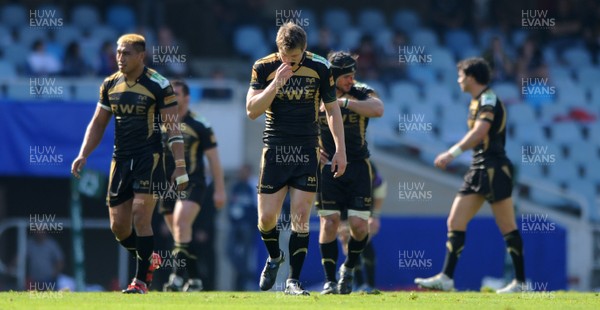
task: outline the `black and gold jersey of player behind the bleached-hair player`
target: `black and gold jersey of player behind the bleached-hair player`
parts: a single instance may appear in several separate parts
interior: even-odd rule
[[[183,150],[187,173],[192,179],[194,179],[195,176],[203,178],[204,151],[217,146],[215,134],[206,119],[202,117],[195,119],[190,112],[188,112],[181,120],[179,129],[183,135]],[[168,147],[167,140],[168,135],[166,131],[163,130],[165,164],[167,166],[167,176],[170,177],[170,174],[175,169],[175,160],[173,159],[173,153],[171,153],[171,150]]]

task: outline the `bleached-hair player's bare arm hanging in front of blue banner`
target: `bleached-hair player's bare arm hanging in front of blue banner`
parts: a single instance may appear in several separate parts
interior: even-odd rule
[[[83,138],[83,143],[81,144],[81,150],[79,151],[79,155],[73,161],[71,165],[71,174],[73,174],[76,178],[79,178],[79,172],[87,161],[88,156],[92,153],[94,149],[100,144],[102,140],[102,136],[104,136],[104,131],[106,130],[106,126],[110,122],[112,114],[108,110],[105,110],[100,105],[96,107],[96,111],[94,112],[94,116],[90,121],[86,131],[85,136]]]

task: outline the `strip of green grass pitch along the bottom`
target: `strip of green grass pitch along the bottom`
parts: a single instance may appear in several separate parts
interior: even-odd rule
[[[1,292],[0,309],[600,309],[599,293],[383,292],[287,296],[274,292],[125,295],[119,292]]]

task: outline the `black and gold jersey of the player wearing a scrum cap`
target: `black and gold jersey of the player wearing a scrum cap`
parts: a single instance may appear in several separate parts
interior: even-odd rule
[[[366,100],[370,96],[376,96],[375,91],[366,84],[355,82],[350,91],[340,98],[349,100]],[[344,121],[344,137],[346,141],[346,158],[349,162],[369,158],[367,148],[367,126],[369,118],[362,116],[350,109],[340,108],[342,120]],[[319,124],[321,127],[320,145],[329,154],[329,160],[335,154],[335,142],[327,124],[325,111],[319,112]]]

